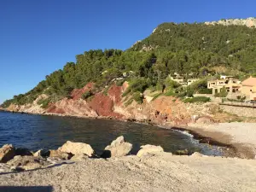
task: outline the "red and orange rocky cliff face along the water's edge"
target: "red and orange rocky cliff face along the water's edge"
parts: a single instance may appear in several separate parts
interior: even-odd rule
[[[49,113],[91,118],[134,119],[138,121],[151,121],[156,124],[187,125],[192,121],[191,117],[201,116],[207,119],[215,118],[218,106],[212,103],[189,104],[183,103],[172,96],[160,96],[155,100],[144,99],[142,104],[131,102],[126,106],[128,98],[122,97],[122,93],[128,87],[113,84],[108,89],[108,94],[97,92],[90,99],[81,98],[83,93],[93,89],[93,84],[86,84],[80,90],[73,90],[73,98],[64,98],[61,101],[51,103],[47,108],[41,108],[37,104],[39,96],[32,104],[9,106],[9,111],[24,113]],[[45,96],[43,96],[45,97]],[[214,109],[215,108],[215,109]],[[214,111],[214,110],[215,111]]]

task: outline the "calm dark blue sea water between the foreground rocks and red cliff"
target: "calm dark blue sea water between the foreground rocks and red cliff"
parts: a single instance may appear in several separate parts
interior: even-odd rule
[[[79,119],[0,112],[0,146],[11,143],[15,147],[38,150],[55,149],[67,140],[88,143],[96,154],[116,137],[124,136],[133,144],[136,154],[144,144],[160,145],[167,152],[188,148],[202,154],[222,155],[218,147],[198,143],[179,131],[157,126],[141,125],[106,119]]]

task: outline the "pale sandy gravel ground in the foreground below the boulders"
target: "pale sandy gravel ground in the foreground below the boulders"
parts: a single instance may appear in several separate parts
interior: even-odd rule
[[[255,178],[256,160],[160,153],[4,173],[0,191],[256,191]]]

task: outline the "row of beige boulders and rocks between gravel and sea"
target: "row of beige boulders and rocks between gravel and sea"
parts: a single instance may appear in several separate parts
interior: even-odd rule
[[[46,168],[73,161],[82,161],[89,158],[116,158],[130,154],[131,143],[126,143],[123,136],[118,137],[108,145],[100,157],[96,156],[93,148],[86,143],[73,143],[67,141],[56,150],[38,150],[33,153],[27,148],[15,148],[11,144],[0,148],[0,172],[26,171]],[[144,145],[137,156],[164,152],[160,146]]]

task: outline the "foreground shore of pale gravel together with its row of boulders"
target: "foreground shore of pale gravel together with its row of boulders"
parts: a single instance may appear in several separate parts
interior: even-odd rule
[[[256,160],[190,156],[118,137],[102,155],[86,143],[32,153],[0,149],[0,191],[255,191]]]

